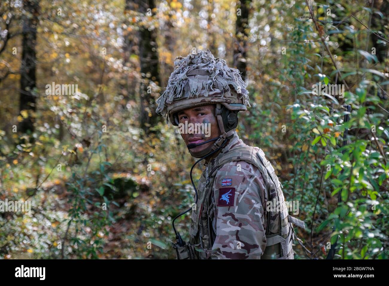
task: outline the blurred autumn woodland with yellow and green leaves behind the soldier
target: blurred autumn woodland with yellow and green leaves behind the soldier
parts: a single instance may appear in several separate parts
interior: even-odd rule
[[[299,202],[295,258],[338,234],[336,259],[388,258],[388,25],[388,0],[2,0],[0,200],[33,208],[0,213],[0,259],[175,258],[194,159],[155,100],[200,49],[247,82],[237,132]]]

